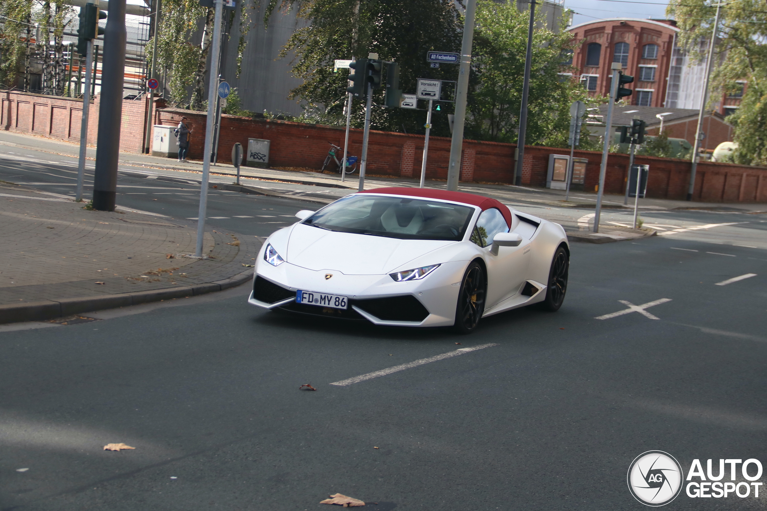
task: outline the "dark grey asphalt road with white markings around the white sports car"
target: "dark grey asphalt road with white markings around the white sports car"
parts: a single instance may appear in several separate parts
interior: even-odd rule
[[[69,168],[16,169],[27,173],[2,160],[0,179],[63,183]],[[121,188],[121,205],[196,216],[195,195],[180,195],[193,186],[120,185],[146,194]],[[210,224],[242,234],[311,204],[212,193],[210,217],[226,218]],[[572,244],[558,313],[492,316],[471,336],[263,312],[247,285],[81,325],[0,327],[0,510],[329,509],[318,503],[337,492],[366,509],[644,509],[626,485],[644,451],[685,472],[696,458],[765,464],[764,215],[657,215],[742,223]],[[661,299],[645,310],[658,319],[596,319]],[[136,448],[103,450],[120,442]],[[764,498],[682,493],[668,509]]]

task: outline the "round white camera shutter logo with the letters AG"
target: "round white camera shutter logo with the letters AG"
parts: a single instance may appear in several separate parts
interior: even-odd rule
[[[665,506],[682,491],[682,466],[662,450],[648,450],[631,462],[627,474],[631,495],[645,506]]]

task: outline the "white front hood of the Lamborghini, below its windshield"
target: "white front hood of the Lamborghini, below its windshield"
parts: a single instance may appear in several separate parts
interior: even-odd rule
[[[350,234],[297,224],[291,231],[285,260],[315,271],[338,270],[346,275],[380,275],[453,243],[456,242]]]

